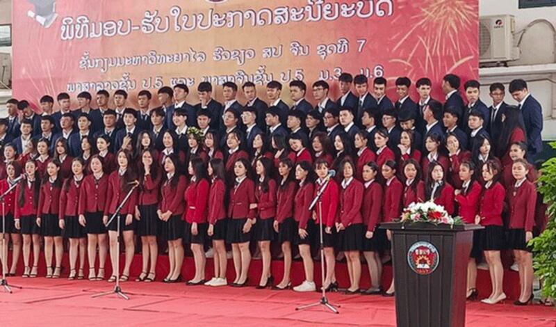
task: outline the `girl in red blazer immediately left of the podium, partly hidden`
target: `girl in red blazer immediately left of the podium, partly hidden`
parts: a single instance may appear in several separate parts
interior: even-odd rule
[[[395,177],[395,170],[395,161],[389,160],[382,165],[382,176],[386,180],[384,183],[383,221],[393,221],[394,219],[400,218],[400,214],[402,214],[403,185],[398,180],[398,177]],[[389,240],[392,238],[390,230],[386,230],[386,236]],[[389,244],[386,244],[386,249],[389,248]],[[389,289],[386,290],[383,295],[394,295],[394,280],[392,280]]]

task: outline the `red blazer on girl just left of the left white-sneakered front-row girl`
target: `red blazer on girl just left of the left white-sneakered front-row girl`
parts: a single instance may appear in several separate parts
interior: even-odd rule
[[[183,198],[187,202],[186,221],[188,223],[206,223],[208,216],[208,192],[211,186],[208,180],[202,179],[199,182],[190,183]]]

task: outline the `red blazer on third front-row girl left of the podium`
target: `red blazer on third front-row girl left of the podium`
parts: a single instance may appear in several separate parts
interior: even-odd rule
[[[363,223],[363,216],[361,216],[361,204],[363,201],[363,193],[365,187],[363,183],[355,178],[344,189],[341,187],[340,196],[340,223],[347,228],[347,226]]]

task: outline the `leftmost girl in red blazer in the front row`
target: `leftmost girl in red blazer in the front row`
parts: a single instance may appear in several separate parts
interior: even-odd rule
[[[14,186],[14,181],[19,175],[22,175],[22,168],[19,166],[17,161],[10,161],[6,163],[6,178],[0,180],[0,194],[6,193],[10,187]],[[17,186],[16,186],[17,187]],[[4,198],[4,204],[6,211],[6,229],[2,230],[0,226],[0,233],[6,233],[6,244],[12,240],[12,264],[10,270],[6,273],[6,276],[15,276],[15,269],[17,268],[17,262],[19,261],[19,256],[22,252],[22,234],[19,232],[19,227],[15,226],[15,207],[16,207],[16,191],[12,189],[10,193]],[[3,250],[0,244],[0,250]],[[2,262],[2,265],[8,267],[8,262]]]

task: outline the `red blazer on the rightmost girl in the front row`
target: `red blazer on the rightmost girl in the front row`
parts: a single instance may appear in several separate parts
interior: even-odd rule
[[[509,228],[523,228],[525,232],[532,232],[535,206],[537,205],[537,188],[532,182],[525,180],[517,189],[515,184],[511,189],[508,189],[507,196]]]

